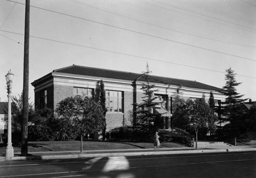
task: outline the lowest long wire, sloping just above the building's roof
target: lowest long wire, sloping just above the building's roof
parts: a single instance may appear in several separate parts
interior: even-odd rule
[[[0,31],[4,31],[4,30],[0,30]],[[4,31],[4,32],[24,35],[24,34],[15,33],[15,32],[9,32],[9,31]],[[81,45],[81,44],[75,44],[75,43],[59,41],[59,40],[54,40],[54,39],[48,39],[48,38],[42,38],[42,37],[37,37],[37,36],[30,36],[30,37],[37,38],[37,39],[44,39],[44,40],[48,40],[48,41],[59,42],[59,43],[64,43],[64,44],[69,44],[69,45],[77,46],[77,47],[89,48],[89,49],[93,49],[93,50],[99,50],[99,51],[104,51],[104,52],[110,52],[110,53],[121,54],[121,55],[125,55],[125,56],[132,56],[132,57],[137,57],[137,58],[142,58],[142,59],[147,59],[147,60],[159,61],[159,62],[164,62],[164,63],[170,63],[170,64],[175,64],[175,65],[186,66],[186,67],[189,67],[189,68],[195,68],[195,69],[211,71],[211,72],[219,72],[219,73],[224,73],[225,74],[225,72],[221,72],[221,71],[217,71],[217,70],[204,69],[204,68],[199,68],[199,67],[191,66],[191,65],[185,65],[185,64],[169,62],[169,61],[163,61],[163,60],[154,59],[154,58],[148,58],[148,57],[142,57],[142,56],[137,56],[137,55],[132,55],[132,54],[120,53],[120,52],[116,52],[116,51],[110,51],[110,50],[104,50],[104,49],[99,49],[99,48],[93,48],[93,47],[84,46],[84,45]],[[245,75],[238,75],[238,76],[256,79],[256,77],[250,77],[250,76],[245,76]]]

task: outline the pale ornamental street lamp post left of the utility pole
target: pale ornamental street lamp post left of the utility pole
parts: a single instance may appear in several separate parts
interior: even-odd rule
[[[5,151],[6,157],[13,157],[13,147],[12,147],[12,121],[11,121],[11,96],[12,96],[12,79],[14,74],[8,71],[8,74],[5,76],[7,81],[7,97],[8,97],[8,143]]]

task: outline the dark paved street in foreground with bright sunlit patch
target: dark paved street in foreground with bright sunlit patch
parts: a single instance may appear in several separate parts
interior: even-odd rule
[[[256,177],[256,151],[0,162],[0,177]]]

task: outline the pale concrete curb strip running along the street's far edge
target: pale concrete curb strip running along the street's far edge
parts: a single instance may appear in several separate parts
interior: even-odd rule
[[[146,152],[108,152],[108,153],[74,153],[57,155],[32,155],[28,157],[0,158],[1,161],[26,161],[26,160],[51,160],[51,159],[73,159],[73,158],[95,158],[95,157],[120,157],[136,155],[159,155],[159,154],[187,154],[187,153],[211,153],[211,152],[236,152],[236,151],[256,151],[256,148],[236,148],[236,149],[197,149],[197,150],[157,150]]]

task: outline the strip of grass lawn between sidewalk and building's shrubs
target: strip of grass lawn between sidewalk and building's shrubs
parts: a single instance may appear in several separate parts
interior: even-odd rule
[[[28,151],[74,151],[80,150],[80,141],[28,142]],[[161,143],[162,148],[186,147],[178,143]],[[20,145],[13,145],[14,152],[20,152]],[[83,150],[100,149],[143,149],[154,148],[153,143],[132,141],[83,141]],[[0,154],[5,154],[6,145],[0,143]]]

